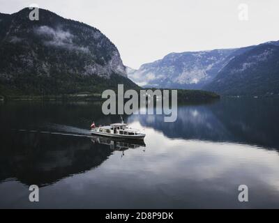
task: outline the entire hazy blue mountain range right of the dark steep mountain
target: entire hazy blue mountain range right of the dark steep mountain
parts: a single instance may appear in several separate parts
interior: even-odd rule
[[[221,95],[277,94],[278,46],[279,41],[270,41],[236,49],[172,53],[127,72],[146,87],[204,89]]]

